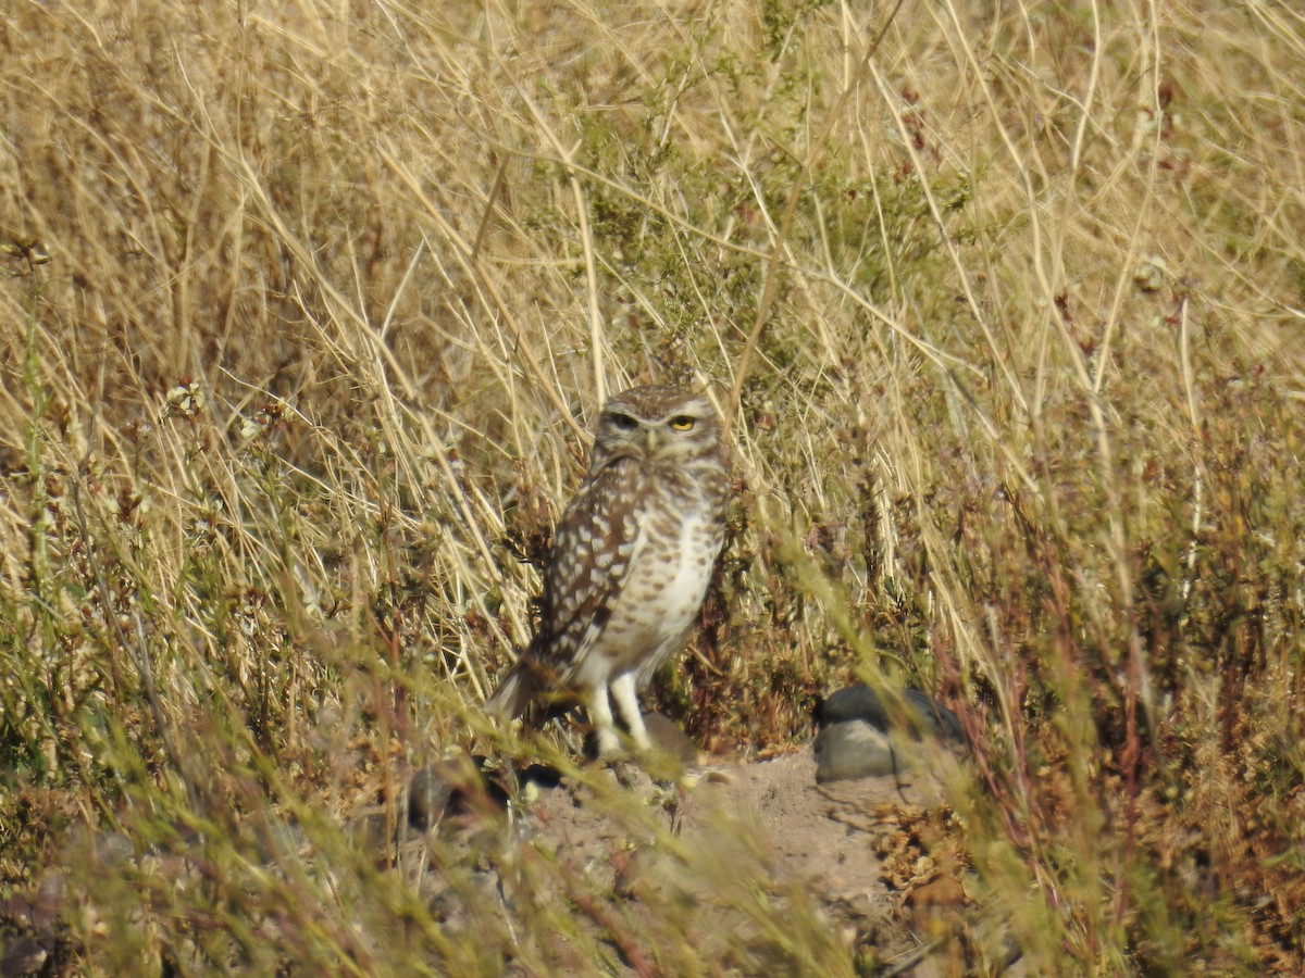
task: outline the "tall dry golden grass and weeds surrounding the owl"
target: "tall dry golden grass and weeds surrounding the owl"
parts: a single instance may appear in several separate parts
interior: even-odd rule
[[[701,742],[801,738],[882,669],[974,733],[970,846],[1039,973],[1305,966],[1305,22],[944,0],[872,50],[887,21],[8,5],[10,944],[493,973],[559,931],[604,968],[591,895],[512,930],[467,883],[466,931],[388,867],[406,765],[483,732],[529,635],[594,406],[659,379],[736,416],[658,694]],[[856,966],[793,921],[765,960]]]

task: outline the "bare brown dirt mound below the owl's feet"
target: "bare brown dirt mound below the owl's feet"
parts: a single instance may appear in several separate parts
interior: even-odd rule
[[[521,792],[514,841],[483,875],[509,917],[531,901],[579,906],[585,936],[532,947],[535,961],[590,969],[594,958],[579,944],[592,940],[612,947],[616,971],[666,973],[673,953],[647,947],[641,938],[655,928],[639,922],[664,925],[681,913],[694,960],[741,974],[805,970],[776,949],[784,935],[773,932],[775,914],[748,911],[761,900],[783,906],[780,919],[795,928],[822,928],[830,960],[851,961],[855,973],[1007,973],[1014,956],[981,922],[962,833],[933,773],[820,785],[809,746],[696,765],[676,782],[633,764],[598,773],[599,788],[562,778]],[[650,822],[630,818],[613,797]],[[666,835],[659,842],[650,825],[669,829],[673,844]],[[583,884],[542,884],[530,868],[539,853],[556,878]]]

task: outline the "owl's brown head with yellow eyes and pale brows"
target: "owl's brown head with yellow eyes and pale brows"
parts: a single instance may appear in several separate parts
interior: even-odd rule
[[[603,406],[592,469],[621,458],[690,462],[718,458],[720,419],[702,394],[680,387],[632,387]]]

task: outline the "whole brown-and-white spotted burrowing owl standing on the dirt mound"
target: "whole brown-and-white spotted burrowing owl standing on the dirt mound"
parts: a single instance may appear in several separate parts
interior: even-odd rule
[[[539,634],[488,709],[512,719],[547,692],[577,690],[609,755],[611,687],[634,746],[647,748],[637,690],[684,647],[724,540],[726,501],[720,420],[703,395],[634,387],[608,400],[553,536]]]

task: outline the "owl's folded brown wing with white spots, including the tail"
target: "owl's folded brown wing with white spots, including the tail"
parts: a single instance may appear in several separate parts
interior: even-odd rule
[[[642,473],[621,459],[592,473],[562,514],[544,574],[539,632],[487,708],[515,717],[564,690],[621,595],[643,548]]]

